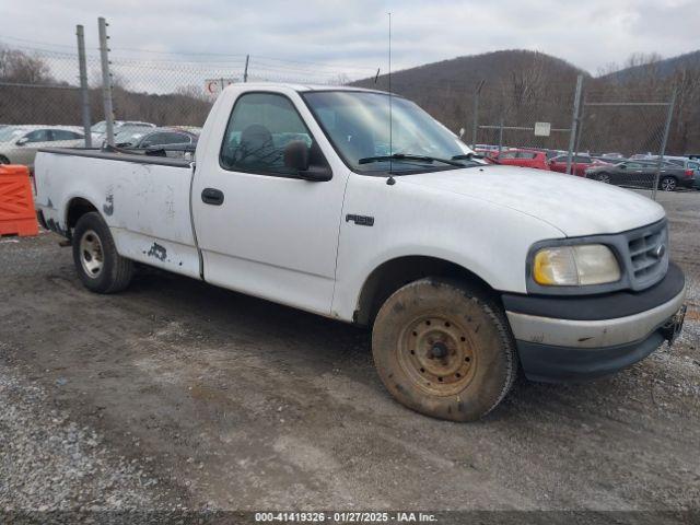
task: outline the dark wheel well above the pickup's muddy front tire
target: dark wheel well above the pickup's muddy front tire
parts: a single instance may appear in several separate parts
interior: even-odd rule
[[[466,268],[436,257],[406,256],[388,260],[372,271],[360,292],[353,320],[360,325],[371,325],[389,295],[409,282],[425,277],[446,277],[468,282],[493,296],[500,304],[495,291]]]

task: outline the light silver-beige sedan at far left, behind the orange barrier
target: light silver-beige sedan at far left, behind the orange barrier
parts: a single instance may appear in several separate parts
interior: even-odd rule
[[[34,168],[39,148],[80,148],[85,145],[82,132],[71,127],[11,126],[0,130],[0,164],[24,164]]]

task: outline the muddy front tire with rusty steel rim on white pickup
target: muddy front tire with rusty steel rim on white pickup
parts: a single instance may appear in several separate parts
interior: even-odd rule
[[[502,308],[476,288],[446,279],[421,279],[389,296],[374,322],[372,353],[399,402],[452,421],[489,413],[517,375]]]

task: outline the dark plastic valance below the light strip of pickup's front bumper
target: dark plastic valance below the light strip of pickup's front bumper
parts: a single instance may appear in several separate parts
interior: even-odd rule
[[[607,348],[565,348],[517,341],[525,376],[530,381],[563,383],[612,374],[656,350],[666,338],[661,330],[643,341]]]

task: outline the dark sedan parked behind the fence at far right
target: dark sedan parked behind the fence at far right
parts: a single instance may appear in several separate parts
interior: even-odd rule
[[[656,177],[657,162],[655,161],[625,161],[618,164],[596,166],[587,170],[588,178],[602,183],[630,186],[635,188],[652,188]],[[674,191],[678,188],[692,188],[695,172],[675,164],[662,164],[658,188]]]

